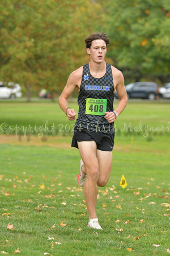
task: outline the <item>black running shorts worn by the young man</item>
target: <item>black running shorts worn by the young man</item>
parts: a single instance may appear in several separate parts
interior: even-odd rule
[[[98,150],[112,151],[114,147],[114,133],[105,134],[100,131],[89,131],[84,128],[79,130],[75,127],[71,147],[78,148],[77,142],[80,141],[95,141]]]

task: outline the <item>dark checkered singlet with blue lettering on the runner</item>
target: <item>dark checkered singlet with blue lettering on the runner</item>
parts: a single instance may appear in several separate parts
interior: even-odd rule
[[[78,97],[79,114],[75,126],[90,131],[113,133],[114,123],[109,123],[103,115],[86,114],[86,98],[107,99],[107,112],[113,111],[114,85],[111,65],[107,63],[106,73],[101,78],[91,76],[88,63],[83,66],[82,82]]]

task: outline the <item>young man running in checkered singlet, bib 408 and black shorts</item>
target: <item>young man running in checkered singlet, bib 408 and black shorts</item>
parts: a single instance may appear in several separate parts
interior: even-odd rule
[[[90,228],[102,229],[96,216],[97,187],[107,184],[112,168],[114,121],[127,104],[124,77],[118,69],[105,63],[110,40],[103,32],[85,39],[90,62],[76,69],[67,80],[59,97],[59,106],[69,120],[75,120],[74,109],[67,100],[78,88],[79,114],[71,146],[79,148],[81,155],[78,183],[84,186]],[[113,111],[114,90],[119,97]]]

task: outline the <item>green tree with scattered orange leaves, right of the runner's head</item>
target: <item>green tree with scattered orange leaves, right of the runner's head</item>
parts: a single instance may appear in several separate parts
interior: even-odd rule
[[[122,0],[107,2],[111,38],[108,55],[126,76],[170,79],[168,0]],[[109,19],[107,18],[109,16]]]

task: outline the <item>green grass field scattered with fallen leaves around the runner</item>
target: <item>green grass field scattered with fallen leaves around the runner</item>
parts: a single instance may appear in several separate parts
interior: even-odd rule
[[[116,120],[112,173],[97,199],[103,230],[97,232],[87,227],[77,183],[80,156],[70,147],[74,122],[56,103],[0,107],[1,253],[168,255],[168,103],[129,102]]]

